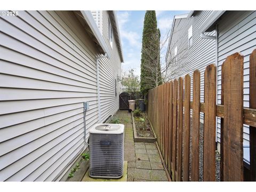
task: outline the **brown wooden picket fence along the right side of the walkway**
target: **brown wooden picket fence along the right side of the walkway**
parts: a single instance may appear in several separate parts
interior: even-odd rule
[[[193,101],[189,75],[149,90],[147,114],[172,181],[199,179],[200,112],[204,113],[203,180],[215,181],[216,117],[221,118],[220,180],[244,180],[243,124],[250,125],[250,177],[256,180],[256,50],[250,55],[250,108],[243,107],[243,59],[235,53],[222,64],[221,105],[216,105],[214,64],[204,72],[204,102],[198,70],[193,74]]]

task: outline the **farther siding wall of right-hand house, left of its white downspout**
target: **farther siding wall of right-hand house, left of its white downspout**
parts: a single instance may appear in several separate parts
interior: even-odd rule
[[[203,39],[198,33],[198,28],[202,25],[205,18],[209,17],[212,11],[197,11],[193,17],[175,19],[173,26],[167,63],[173,60],[174,49],[177,47],[177,63],[172,64],[175,71],[174,78],[190,75],[191,78],[191,100],[193,99],[193,71],[198,69],[201,73],[201,102],[204,102],[204,70],[207,65],[215,63],[215,40]],[[188,30],[193,29],[193,45],[188,46]],[[215,35],[215,31],[207,33]],[[174,65],[174,66],[173,66]],[[170,71],[169,71],[170,73]],[[201,122],[204,114],[201,113]]]

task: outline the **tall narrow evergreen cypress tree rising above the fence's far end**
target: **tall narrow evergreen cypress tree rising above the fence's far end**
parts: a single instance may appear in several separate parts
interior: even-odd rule
[[[160,30],[157,29],[156,12],[146,11],[141,50],[140,90],[142,94],[162,84],[159,49]]]

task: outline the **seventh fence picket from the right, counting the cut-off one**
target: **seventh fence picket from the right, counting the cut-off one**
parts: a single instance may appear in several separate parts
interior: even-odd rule
[[[177,99],[178,99],[178,81],[174,79],[173,83],[173,129],[172,129],[172,181],[175,181],[176,172],[176,138],[177,138]]]

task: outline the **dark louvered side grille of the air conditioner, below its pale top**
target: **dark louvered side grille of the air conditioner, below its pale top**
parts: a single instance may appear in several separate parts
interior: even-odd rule
[[[122,134],[90,134],[90,176],[120,178],[123,175]]]

